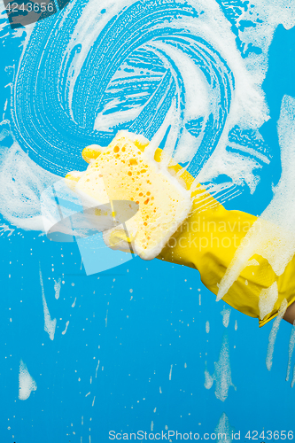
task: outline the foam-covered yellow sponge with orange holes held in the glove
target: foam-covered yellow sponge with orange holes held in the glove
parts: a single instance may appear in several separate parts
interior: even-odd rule
[[[120,131],[97,159],[91,159],[75,186],[75,191],[99,204],[113,200],[138,204],[138,212],[126,227],[109,229],[104,239],[113,249],[124,249],[125,243],[129,250],[131,243],[144,260],[159,255],[191,208],[190,191],[154,159],[154,150],[146,148],[148,143],[144,137]]]

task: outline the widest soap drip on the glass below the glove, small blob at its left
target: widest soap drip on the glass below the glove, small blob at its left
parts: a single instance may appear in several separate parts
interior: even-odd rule
[[[213,376],[210,375],[207,368],[205,369],[205,387],[206,389],[211,389],[213,382],[215,382],[216,399],[224,401],[228,398],[230,386],[232,386],[235,390],[237,389],[231,380],[229,337],[226,333],[223,335],[221,352],[219,354],[218,361],[214,362],[214,368],[215,370]]]

